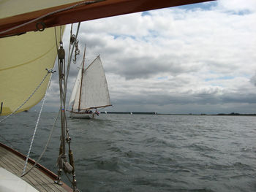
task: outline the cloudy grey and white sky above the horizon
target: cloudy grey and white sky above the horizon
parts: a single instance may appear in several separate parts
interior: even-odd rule
[[[113,107],[103,111],[256,113],[255,24],[255,0],[219,0],[81,23],[81,53],[72,64],[67,100],[86,43],[89,59],[101,55],[108,80]],[[58,110],[58,85],[53,77],[45,110]]]

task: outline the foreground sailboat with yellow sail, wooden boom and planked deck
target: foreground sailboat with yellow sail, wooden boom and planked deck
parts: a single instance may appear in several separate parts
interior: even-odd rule
[[[65,113],[67,72],[78,31],[71,38],[72,46],[69,47],[72,49],[66,66],[64,42],[61,39],[64,27],[61,26],[203,1],[211,0],[45,0],[40,1],[39,4],[29,0],[0,1],[0,115],[6,115],[1,118],[0,126],[3,126],[2,122],[10,115],[29,110],[42,99],[42,103],[45,101],[45,93],[54,73],[56,55],[58,55],[61,100],[59,110],[61,143],[59,152],[56,152],[59,153],[58,173],[54,174],[29,158],[29,153],[25,156],[1,143],[0,191],[79,191]],[[79,26],[80,23],[78,28]],[[34,133],[36,130],[37,125]],[[29,152],[33,139],[34,137],[31,139]],[[20,166],[23,163],[25,163],[24,168],[27,167],[30,172],[26,172],[26,169]],[[72,188],[61,182],[63,172],[72,175]]]

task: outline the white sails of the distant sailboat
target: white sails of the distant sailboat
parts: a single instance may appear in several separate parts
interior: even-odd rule
[[[86,110],[111,105],[108,83],[99,56],[83,72],[81,86],[81,93],[79,88],[76,91],[73,110],[78,110],[78,108],[79,110]]]

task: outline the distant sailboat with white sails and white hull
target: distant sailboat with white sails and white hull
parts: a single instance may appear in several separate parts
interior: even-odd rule
[[[94,118],[99,115],[98,108],[111,106],[108,82],[99,55],[84,69],[85,55],[86,48],[69,99],[69,105],[72,104],[72,109],[69,111],[71,118]],[[92,111],[93,109],[95,111]]]

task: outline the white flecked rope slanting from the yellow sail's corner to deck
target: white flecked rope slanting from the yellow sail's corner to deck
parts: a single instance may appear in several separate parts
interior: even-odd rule
[[[53,76],[53,73],[54,73],[55,71],[53,71],[53,69],[50,69],[50,70],[47,69],[47,70],[48,70],[48,74],[50,73],[50,80],[51,80],[51,77]],[[26,166],[27,166],[27,164],[28,164],[29,155],[30,155],[30,152],[31,152],[31,147],[32,147],[33,142],[34,142],[34,136],[35,136],[35,134],[36,134],[36,132],[37,132],[37,127],[38,127],[39,119],[40,119],[40,117],[41,117],[42,108],[43,108],[43,106],[44,106],[44,104],[45,104],[46,93],[47,93],[47,91],[48,91],[48,88],[50,87],[50,80],[49,80],[49,82],[48,82],[47,90],[45,91],[44,99],[42,100],[42,106],[41,106],[41,109],[40,109],[40,112],[39,112],[39,115],[38,115],[38,118],[37,118],[37,124],[36,124],[36,126],[35,126],[35,128],[34,128],[34,134],[33,134],[33,137],[32,137],[32,139],[31,139],[31,143],[30,143],[30,146],[29,146],[29,152],[28,152],[28,155],[26,156],[26,161],[25,161],[25,165],[24,165],[23,173],[22,173],[22,174],[24,174],[25,171],[26,171]]]

